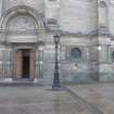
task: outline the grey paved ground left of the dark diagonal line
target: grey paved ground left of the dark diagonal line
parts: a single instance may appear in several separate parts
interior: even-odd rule
[[[79,88],[77,89],[79,90]],[[0,114],[102,113],[91,107],[91,105],[72,93],[68,89],[52,91],[51,87],[22,86],[0,87]]]

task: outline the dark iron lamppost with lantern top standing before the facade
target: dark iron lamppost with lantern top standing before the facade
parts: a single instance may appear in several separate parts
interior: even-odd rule
[[[61,88],[60,74],[59,74],[59,60],[58,60],[58,54],[59,54],[58,48],[60,42],[60,36],[59,35],[53,36],[53,40],[55,43],[55,64],[54,64],[54,78],[53,78],[52,89],[55,90]]]

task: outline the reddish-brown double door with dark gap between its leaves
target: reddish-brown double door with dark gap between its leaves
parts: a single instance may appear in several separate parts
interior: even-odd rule
[[[18,49],[15,60],[16,78],[35,78],[35,50]]]

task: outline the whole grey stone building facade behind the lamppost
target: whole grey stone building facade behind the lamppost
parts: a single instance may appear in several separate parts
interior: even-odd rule
[[[114,0],[0,0],[0,81],[114,80]]]

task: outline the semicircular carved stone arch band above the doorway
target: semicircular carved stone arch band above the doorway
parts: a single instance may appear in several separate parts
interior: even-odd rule
[[[30,15],[31,17],[34,17],[34,20],[37,23],[37,29],[45,29],[43,16],[41,14],[39,14],[35,9],[26,7],[26,5],[17,5],[17,7],[9,9],[2,15],[2,18],[0,21],[1,29],[5,29],[7,23],[9,22],[9,20],[11,17],[13,17],[14,15],[17,15],[17,14],[28,14],[28,15]]]

